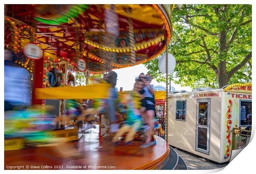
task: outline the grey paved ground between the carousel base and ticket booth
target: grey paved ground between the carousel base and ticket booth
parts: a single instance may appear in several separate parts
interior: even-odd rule
[[[187,163],[187,167],[189,170],[208,170],[208,169],[218,169],[225,167],[228,165],[228,163],[223,163],[219,165],[219,163],[207,160],[206,162],[203,162],[199,160],[199,156],[193,155],[191,153],[188,153],[183,150],[179,150],[177,148],[174,148],[178,155],[183,158],[183,160]]]

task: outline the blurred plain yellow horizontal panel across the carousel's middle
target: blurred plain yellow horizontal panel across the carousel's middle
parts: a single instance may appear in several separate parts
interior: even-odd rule
[[[36,88],[36,99],[107,99],[109,84]]]

